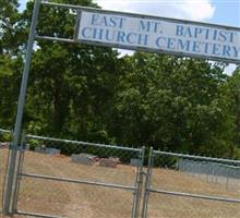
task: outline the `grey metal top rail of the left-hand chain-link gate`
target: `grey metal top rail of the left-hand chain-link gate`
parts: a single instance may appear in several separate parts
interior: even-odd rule
[[[27,134],[26,138],[53,141],[53,142],[61,142],[61,143],[71,143],[71,144],[75,144],[75,145],[88,145],[88,146],[97,146],[97,147],[131,150],[131,152],[142,152],[143,150],[143,148],[123,147],[123,146],[117,146],[117,145],[106,145],[106,144],[89,143],[89,142],[83,142],[83,141],[62,140],[62,138],[46,137],[46,136],[38,136],[38,135],[32,135],[32,134]]]

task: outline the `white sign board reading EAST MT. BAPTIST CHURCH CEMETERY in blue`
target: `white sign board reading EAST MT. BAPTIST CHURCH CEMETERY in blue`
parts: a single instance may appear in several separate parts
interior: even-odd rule
[[[99,10],[80,11],[75,39],[240,63],[240,28]]]

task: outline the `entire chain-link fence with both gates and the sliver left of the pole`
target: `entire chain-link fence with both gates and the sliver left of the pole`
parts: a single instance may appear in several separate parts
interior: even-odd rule
[[[11,137],[0,129],[1,203]],[[144,153],[144,147],[25,135],[11,209],[16,217],[240,217],[240,161],[151,148],[143,167]]]

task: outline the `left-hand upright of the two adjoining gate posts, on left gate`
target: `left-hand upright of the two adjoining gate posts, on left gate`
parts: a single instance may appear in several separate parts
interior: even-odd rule
[[[137,166],[137,175],[135,181],[135,196],[134,196],[134,203],[132,208],[132,217],[137,218],[140,214],[140,202],[141,202],[141,193],[142,193],[142,184],[143,184],[143,165],[144,165],[144,157],[145,157],[145,147],[142,148],[140,154],[141,162]]]

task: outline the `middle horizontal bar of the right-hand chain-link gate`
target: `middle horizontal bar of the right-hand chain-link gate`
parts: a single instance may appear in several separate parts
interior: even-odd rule
[[[184,192],[155,190],[155,189],[147,189],[147,191],[153,192],[153,193],[182,196],[182,197],[193,197],[193,198],[200,198],[200,199],[220,201],[220,202],[228,202],[228,203],[240,203],[240,198],[237,199],[237,198],[218,197],[218,196],[209,196],[209,195],[190,194],[190,193],[184,193]]]

